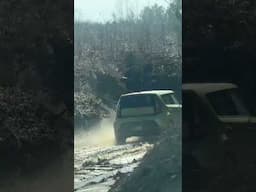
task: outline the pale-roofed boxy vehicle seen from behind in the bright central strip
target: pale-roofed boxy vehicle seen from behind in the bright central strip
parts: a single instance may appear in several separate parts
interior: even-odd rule
[[[180,119],[181,105],[172,90],[153,90],[121,95],[116,109],[116,142],[131,136],[157,136]]]

